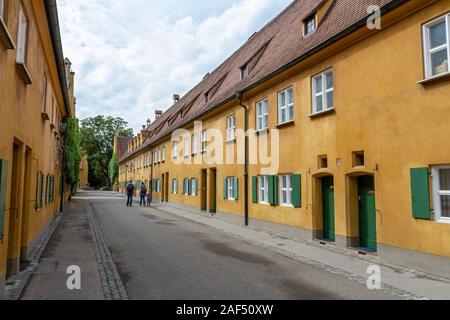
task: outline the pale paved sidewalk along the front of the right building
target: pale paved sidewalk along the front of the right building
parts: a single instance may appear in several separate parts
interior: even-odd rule
[[[274,224],[270,227],[269,223],[252,221],[250,227],[245,227],[243,218],[234,215],[211,216],[195,208],[170,204],[158,203],[153,207],[362,283],[366,283],[369,277],[368,267],[379,265],[383,290],[406,299],[450,299],[450,279],[438,278],[400,266],[382,265],[376,256],[363,258],[356,253],[332,246],[296,239],[285,232],[280,232]]]

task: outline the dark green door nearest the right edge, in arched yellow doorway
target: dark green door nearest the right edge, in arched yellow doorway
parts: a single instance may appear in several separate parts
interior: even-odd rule
[[[360,246],[377,250],[377,217],[375,208],[375,182],[372,176],[358,178],[359,241]]]

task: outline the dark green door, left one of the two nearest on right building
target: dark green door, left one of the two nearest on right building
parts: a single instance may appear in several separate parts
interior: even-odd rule
[[[325,177],[322,179],[322,207],[323,207],[323,238],[335,241],[334,225],[334,179]]]

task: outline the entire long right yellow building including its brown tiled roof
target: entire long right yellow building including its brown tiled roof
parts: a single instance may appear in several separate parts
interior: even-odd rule
[[[294,1],[130,143],[122,191],[449,276],[450,3],[373,2]]]

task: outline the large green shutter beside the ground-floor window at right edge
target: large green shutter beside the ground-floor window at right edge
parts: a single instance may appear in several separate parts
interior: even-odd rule
[[[414,218],[431,219],[428,168],[411,169],[411,197]]]

